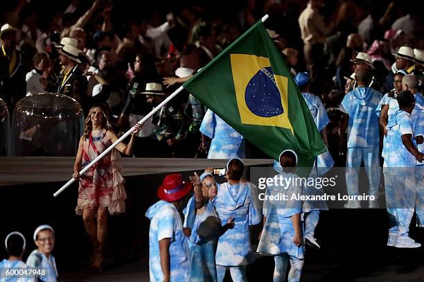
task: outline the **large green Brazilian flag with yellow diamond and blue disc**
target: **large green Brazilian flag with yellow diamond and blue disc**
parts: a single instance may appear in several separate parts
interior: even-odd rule
[[[258,21],[183,87],[273,159],[297,152],[299,167],[326,151],[283,55]]]

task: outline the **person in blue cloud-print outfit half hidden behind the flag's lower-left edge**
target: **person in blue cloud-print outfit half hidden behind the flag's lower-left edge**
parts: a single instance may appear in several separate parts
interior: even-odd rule
[[[243,159],[246,157],[243,136],[213,113],[211,109],[208,109],[203,117],[200,132],[202,132],[202,147],[204,150],[206,150],[206,143],[208,143],[206,137],[212,139],[208,159]]]

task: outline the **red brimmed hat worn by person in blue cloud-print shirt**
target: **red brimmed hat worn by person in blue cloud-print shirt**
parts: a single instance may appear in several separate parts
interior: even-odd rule
[[[157,196],[166,202],[175,202],[182,199],[190,191],[191,183],[183,182],[181,174],[173,173],[166,175],[162,185],[157,190]]]

